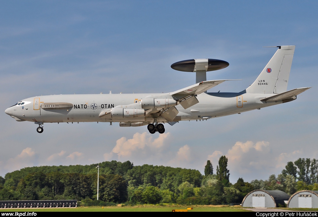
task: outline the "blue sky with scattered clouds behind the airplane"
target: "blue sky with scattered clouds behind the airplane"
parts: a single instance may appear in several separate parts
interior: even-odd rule
[[[130,160],[204,171],[229,158],[230,181],[267,179],[288,161],[318,158],[317,5],[313,1],[3,1],[0,8],[0,175],[40,165]],[[170,92],[195,74],[174,62],[230,63],[207,79],[237,92],[257,78],[275,48],[296,45],[288,88],[296,101],[166,126],[163,135],[118,123],[16,122],[5,108],[35,95]],[[214,169],[215,172],[215,169]]]

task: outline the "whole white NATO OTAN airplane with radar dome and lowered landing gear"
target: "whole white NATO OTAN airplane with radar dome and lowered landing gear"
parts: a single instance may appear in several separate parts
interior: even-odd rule
[[[121,127],[146,126],[149,133],[165,132],[164,124],[204,121],[290,102],[310,87],[287,91],[295,46],[275,46],[277,51],[248,88],[238,93],[208,93],[225,81],[206,81],[206,72],[223,69],[228,62],[191,59],[173,63],[172,69],[196,72],[196,84],[153,94],[79,94],[34,96],[17,102],[5,113],[16,121],[30,121],[43,132],[44,123],[119,122]]]

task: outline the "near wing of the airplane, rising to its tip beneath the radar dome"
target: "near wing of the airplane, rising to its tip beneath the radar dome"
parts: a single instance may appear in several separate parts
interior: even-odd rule
[[[170,95],[174,96],[176,99],[181,99],[181,98],[184,98],[188,95],[194,95],[194,94],[198,95],[198,94],[203,93],[203,92],[207,91],[208,89],[211,89],[212,87],[215,87],[218,84],[225,82],[225,81],[236,81],[236,80],[203,81],[203,82],[191,85],[189,87],[171,92]]]

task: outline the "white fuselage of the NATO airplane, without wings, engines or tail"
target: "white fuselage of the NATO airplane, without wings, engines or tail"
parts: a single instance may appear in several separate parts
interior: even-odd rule
[[[166,94],[83,94],[83,95],[46,95],[24,99],[20,105],[6,109],[6,113],[17,121],[30,122],[153,122],[152,116],[138,116],[128,118],[99,117],[100,112],[114,107],[140,102],[146,96],[164,96]],[[260,99],[274,94],[240,93],[202,93],[197,95],[199,103],[184,109],[181,105],[179,120],[210,119],[225,115],[237,114],[253,109],[259,109],[278,102],[262,102]],[[22,102],[24,102],[22,104]],[[67,102],[73,104],[69,109],[42,109],[42,103],[54,104]],[[122,105],[122,106],[121,106]],[[158,122],[166,122],[161,116]]]

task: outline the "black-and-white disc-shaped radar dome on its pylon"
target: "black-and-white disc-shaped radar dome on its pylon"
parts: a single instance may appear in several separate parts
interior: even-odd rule
[[[224,60],[217,59],[191,59],[175,62],[172,69],[182,72],[195,72],[196,83],[206,81],[206,72],[224,69],[230,64]]]

